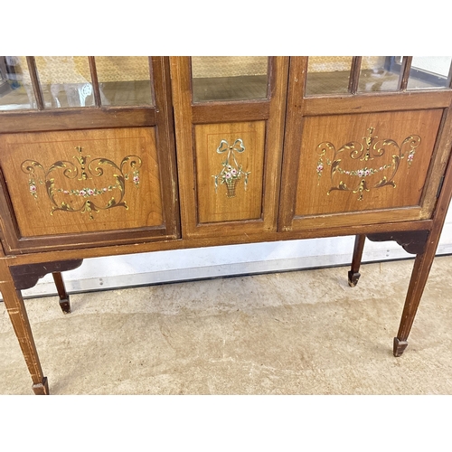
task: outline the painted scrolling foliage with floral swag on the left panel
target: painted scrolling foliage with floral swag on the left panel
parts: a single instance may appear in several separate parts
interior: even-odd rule
[[[74,155],[73,159],[77,164],[60,160],[45,169],[35,160],[25,160],[22,163],[22,171],[29,176],[31,195],[38,200],[38,187],[45,187],[52,202],[51,215],[55,211],[80,212],[88,213],[89,219],[94,220],[93,212],[113,207],[128,209],[124,200],[126,182],[132,182],[138,188],[139,168],[142,165],[140,157],[127,155],[116,165],[108,158],[89,160],[90,155],[83,155],[81,146],[76,149],[78,155]],[[72,181],[71,187],[67,188],[67,184],[59,186],[57,181]]]

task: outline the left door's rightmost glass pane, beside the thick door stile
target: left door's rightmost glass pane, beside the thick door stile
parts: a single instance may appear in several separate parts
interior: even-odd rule
[[[95,61],[102,105],[154,105],[146,56],[102,56]]]

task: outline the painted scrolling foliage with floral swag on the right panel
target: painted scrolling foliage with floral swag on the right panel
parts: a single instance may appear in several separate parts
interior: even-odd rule
[[[386,185],[396,187],[394,177],[402,159],[406,158],[410,168],[416,149],[420,145],[420,137],[411,135],[399,145],[391,138],[373,137],[373,131],[373,127],[367,129],[367,137],[363,137],[363,144],[350,141],[337,150],[329,141],[324,141],[317,146],[318,184],[324,174],[325,165],[331,167],[331,188],[327,194],[334,190],[348,191],[358,193],[358,201],[363,201],[364,192]]]

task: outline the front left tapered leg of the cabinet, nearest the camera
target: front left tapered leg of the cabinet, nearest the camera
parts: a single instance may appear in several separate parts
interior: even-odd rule
[[[14,287],[13,278],[9,268],[2,262],[0,291],[4,299],[6,311],[13,324],[14,333],[17,336],[25,363],[33,381],[33,392],[38,395],[49,394],[47,378],[42,373],[36,345],[34,344],[32,328],[28,321],[28,315],[24,306],[24,298],[20,290]]]

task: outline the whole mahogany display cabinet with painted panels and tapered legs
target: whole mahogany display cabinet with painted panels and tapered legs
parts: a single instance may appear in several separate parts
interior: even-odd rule
[[[426,58],[0,57],[0,291],[33,391],[21,290],[52,272],[69,313],[61,271],[153,250],[356,235],[354,286],[365,238],[397,240],[400,356],[452,193],[451,58]]]

